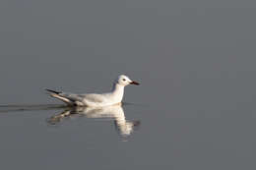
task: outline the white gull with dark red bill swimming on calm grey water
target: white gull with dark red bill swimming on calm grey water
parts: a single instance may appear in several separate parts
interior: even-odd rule
[[[124,94],[124,86],[126,85],[140,84],[131,81],[125,75],[120,75],[114,81],[112,90],[106,93],[75,94],[70,92],[55,91],[52,89],[46,90],[50,92],[52,97],[58,98],[70,106],[103,107],[121,103]]]

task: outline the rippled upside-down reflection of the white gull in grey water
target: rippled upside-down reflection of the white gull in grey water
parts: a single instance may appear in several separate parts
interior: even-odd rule
[[[73,116],[87,116],[88,118],[112,118],[115,129],[121,136],[129,136],[135,127],[140,125],[140,121],[128,121],[125,119],[121,105],[111,105],[106,107],[69,107],[58,115],[47,119],[48,124],[56,125],[64,118]]]

